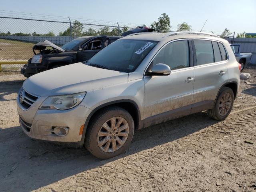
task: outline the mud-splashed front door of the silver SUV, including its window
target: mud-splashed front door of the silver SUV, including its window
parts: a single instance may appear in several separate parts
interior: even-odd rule
[[[171,42],[158,52],[150,64],[150,67],[158,63],[167,64],[171,74],[144,77],[145,126],[190,114],[195,71],[189,47],[188,40]]]

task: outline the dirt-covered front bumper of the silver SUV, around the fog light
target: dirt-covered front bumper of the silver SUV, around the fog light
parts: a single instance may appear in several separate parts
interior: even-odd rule
[[[17,108],[20,116],[20,126],[29,137],[57,142],[79,142],[82,140],[82,135],[79,134],[80,127],[84,125],[91,112],[89,108],[78,105],[69,110],[38,110],[47,98],[40,97],[28,110],[24,110],[18,98]],[[68,134],[57,136],[53,132],[54,127],[67,127]],[[85,130],[86,128],[84,128]]]

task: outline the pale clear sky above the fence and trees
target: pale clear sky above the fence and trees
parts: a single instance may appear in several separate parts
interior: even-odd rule
[[[45,0],[44,2],[12,0],[11,2],[0,0],[0,16],[22,16],[21,13],[16,12],[25,12],[52,15],[29,16],[37,19],[52,17],[67,20],[68,18],[64,17],[69,16],[95,20],[95,23],[116,25],[118,21],[120,25],[136,26],[136,24],[150,25],[165,12],[174,28],[182,22],[187,22],[192,29],[200,30],[207,19],[204,30],[221,33],[228,28],[230,32],[236,33],[256,32],[256,0]],[[25,14],[23,16],[28,17]],[[83,20],[86,21],[88,20]],[[3,31],[2,27],[0,31]]]

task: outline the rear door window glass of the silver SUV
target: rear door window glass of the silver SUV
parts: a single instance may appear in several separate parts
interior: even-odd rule
[[[203,65],[214,62],[212,42],[207,40],[194,40],[196,48],[197,65]]]

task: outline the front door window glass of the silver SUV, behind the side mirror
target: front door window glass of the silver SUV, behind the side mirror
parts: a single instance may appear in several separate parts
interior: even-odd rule
[[[180,40],[169,43],[154,58],[154,65],[164,63],[171,70],[189,67],[188,40]]]

